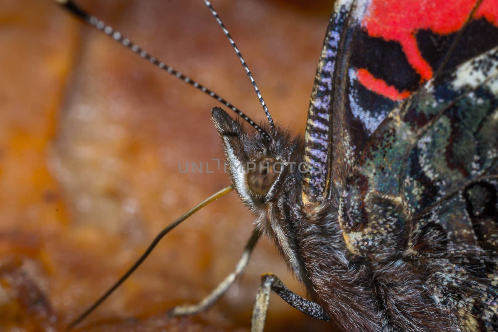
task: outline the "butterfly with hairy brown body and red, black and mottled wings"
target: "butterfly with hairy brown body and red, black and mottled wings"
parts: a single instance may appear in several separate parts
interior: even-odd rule
[[[498,330],[498,5],[448,2],[338,1],[304,140],[213,109],[249,246],[310,292],[263,275],[253,331],[270,291],[345,331]]]

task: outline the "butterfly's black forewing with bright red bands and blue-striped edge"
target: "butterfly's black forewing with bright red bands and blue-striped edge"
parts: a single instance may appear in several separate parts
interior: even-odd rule
[[[310,99],[302,182],[305,204],[337,197],[373,131],[437,71],[498,40],[498,0],[484,0],[459,35],[475,0],[338,0]],[[332,194],[333,192],[333,194]]]

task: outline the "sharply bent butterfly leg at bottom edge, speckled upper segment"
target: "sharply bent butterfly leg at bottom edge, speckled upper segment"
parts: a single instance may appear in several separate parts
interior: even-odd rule
[[[270,300],[270,290],[292,307],[305,313],[306,315],[323,321],[330,321],[329,316],[318,303],[306,300],[305,298],[295,294],[288,289],[276,275],[272,273],[264,273],[261,276],[261,285],[257,290],[256,301],[254,303],[254,308],[252,309],[251,332],[263,331],[266,311],[268,310],[268,303]]]

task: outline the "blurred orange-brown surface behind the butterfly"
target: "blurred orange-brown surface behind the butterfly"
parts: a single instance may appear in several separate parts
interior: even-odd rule
[[[332,4],[216,0],[272,116],[304,130]],[[264,118],[239,60],[200,0],[81,0],[152,55]],[[229,185],[210,120],[218,105],[49,0],[0,2],[0,331],[59,331],[170,221]],[[189,171],[181,173],[179,163]],[[192,162],[203,172],[192,173]],[[209,312],[166,319],[235,266],[252,217],[235,193],[197,213],[81,331],[248,331],[259,276],[304,294],[273,245]],[[266,330],[331,331],[272,296]]]

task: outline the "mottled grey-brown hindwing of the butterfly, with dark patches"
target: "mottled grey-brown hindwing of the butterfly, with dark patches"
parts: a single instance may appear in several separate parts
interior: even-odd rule
[[[344,189],[353,255],[407,262],[463,331],[498,331],[498,47],[392,111]]]

